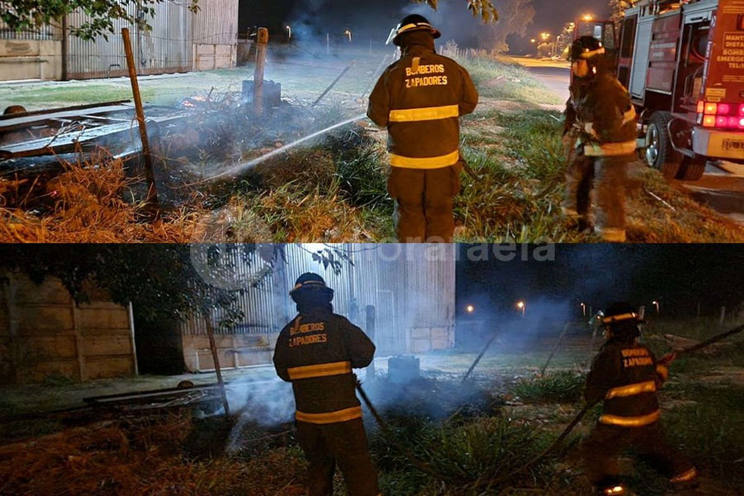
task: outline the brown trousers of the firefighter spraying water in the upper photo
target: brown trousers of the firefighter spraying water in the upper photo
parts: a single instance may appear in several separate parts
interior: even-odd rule
[[[395,200],[399,242],[452,242],[452,199],[460,192],[457,165],[439,169],[392,167],[388,193]]]

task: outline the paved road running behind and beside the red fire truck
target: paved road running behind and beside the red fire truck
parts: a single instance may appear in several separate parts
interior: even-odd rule
[[[570,68],[560,62],[513,57],[545,86],[563,100],[568,100]],[[744,166],[723,162],[719,167],[708,165],[699,181],[673,181],[694,199],[718,213],[744,225]]]

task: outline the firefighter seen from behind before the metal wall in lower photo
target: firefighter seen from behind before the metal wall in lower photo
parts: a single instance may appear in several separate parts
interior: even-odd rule
[[[292,382],[297,437],[310,463],[309,494],[333,495],[338,464],[350,496],[377,496],[351,373],[371,363],[374,344],[362,329],[333,313],[333,289],[318,274],[301,275],[290,294],[299,315],[279,335],[274,366],[281,379]]]

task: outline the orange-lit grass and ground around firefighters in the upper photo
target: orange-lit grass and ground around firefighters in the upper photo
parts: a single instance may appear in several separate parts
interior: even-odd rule
[[[269,119],[264,123],[266,129],[256,129],[260,126],[252,124],[233,127],[228,133],[230,141],[222,139],[216,145],[234,150],[231,155],[220,157],[221,165],[214,158],[211,162],[205,160],[209,155],[220,155],[215,154],[215,149],[203,149],[199,157],[179,159],[176,168],[196,173],[197,177],[208,175],[225,164],[249,160],[327,124],[364,112],[365,102],[359,96],[369,86],[379,63],[369,57],[355,65],[318,109],[307,109],[344,62],[337,62],[333,70],[305,67],[312,65],[307,61],[297,62],[301,65],[278,62],[267,77],[280,80],[286,97],[295,105],[306,107],[296,110],[300,118],[290,117],[291,126]],[[559,212],[565,158],[560,144],[562,116],[557,97],[519,65],[496,59],[463,63],[478,86],[481,104],[473,115],[463,119],[462,149],[477,178],[463,175],[464,187],[455,200],[456,240],[597,240],[591,233],[571,228]],[[199,82],[194,84],[201,85],[202,93],[220,81],[226,88],[237,89],[237,83],[249,72],[250,69],[214,71],[176,80],[152,80],[147,83],[153,87],[144,88],[155,94],[161,91],[163,97],[170,93],[166,91],[170,85],[180,84],[181,93],[187,94],[187,82],[192,80]],[[157,90],[157,85],[166,86]],[[40,91],[68,91],[64,98],[70,100],[79,98],[75,91],[80,89],[76,88],[68,85]],[[46,98],[43,94],[37,97]],[[87,192],[83,199],[71,195],[65,202],[42,209],[47,212],[42,215],[29,213],[28,210],[38,210],[31,208],[5,210],[4,218],[9,219],[6,224],[13,227],[1,231],[0,239],[65,241],[84,236],[86,240],[101,241],[187,241],[203,239],[202,233],[210,231],[203,224],[215,222],[214,219],[220,219],[221,225],[227,227],[220,232],[227,232],[229,239],[237,241],[251,240],[256,233],[261,240],[276,242],[393,239],[392,202],[385,190],[385,136],[384,131],[368,125],[347,126],[315,144],[264,162],[242,180],[218,188],[206,184],[176,187],[173,191],[182,196],[178,206],[164,213],[161,222],[154,226],[132,225],[139,207],[130,206],[129,201],[112,201],[121,198],[122,190],[126,191],[120,184],[124,173],[118,172],[119,164],[108,167],[117,175],[115,180],[107,181],[117,184],[113,188],[94,184],[73,167],[66,181],[81,183],[83,192]],[[635,167],[632,176],[627,209],[630,241],[744,239],[742,228],[697,204],[655,171]],[[193,176],[188,179],[185,182]],[[0,195],[12,196],[13,187],[12,182],[4,181]]]

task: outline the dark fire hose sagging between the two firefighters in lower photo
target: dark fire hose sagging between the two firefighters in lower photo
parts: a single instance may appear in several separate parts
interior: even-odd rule
[[[731,329],[727,332],[722,332],[721,334],[715,335],[712,338],[708,338],[705,341],[702,341],[698,344],[694,344],[690,347],[683,348],[682,350],[677,350],[671,353],[668,353],[667,355],[664,355],[658,363],[663,365],[671,364],[673,361],[675,361],[677,358],[679,358],[682,355],[686,355],[687,353],[696,352],[699,350],[702,350],[705,347],[710,346],[711,344],[717,343],[719,341],[723,341],[726,338],[730,338],[733,335],[737,335],[740,332],[744,332],[744,325],[738,326],[734,329]],[[495,338],[495,336],[494,336]],[[482,354],[487,350],[487,348],[490,346],[491,342],[493,340],[487,342],[487,345],[484,347]],[[478,363],[478,359],[476,359],[475,364]],[[475,368],[475,364],[471,367]],[[448,477],[441,473],[441,471],[437,471],[432,466],[429,466],[427,463],[424,463],[423,461],[419,460],[416,455],[406,448],[402,443],[398,442],[395,438],[395,434],[393,433],[392,429],[390,428],[390,425],[388,425],[387,422],[385,422],[385,419],[382,419],[382,416],[379,415],[376,408],[374,408],[374,405],[372,405],[372,402],[370,401],[369,397],[367,396],[367,393],[365,393],[365,390],[362,389],[362,383],[359,381],[356,381],[356,390],[359,391],[359,395],[362,396],[362,401],[365,402],[365,405],[369,408],[370,412],[372,413],[372,416],[376,420],[376,422],[379,424],[380,428],[382,429],[382,432],[385,434],[386,437],[388,437],[388,440],[400,450],[401,453],[405,455],[406,458],[414,465],[416,468],[418,468],[420,471],[423,471],[425,474],[429,474],[432,477],[435,477],[439,480],[443,480],[444,482],[448,483],[454,483],[454,484],[464,484],[467,486],[496,486],[502,483],[507,482],[508,480],[512,479],[516,475],[522,474],[522,472],[526,471],[529,468],[532,468],[537,463],[540,463],[542,460],[545,460],[545,457],[548,457],[549,454],[551,454],[560,444],[563,442],[563,440],[568,437],[568,434],[571,434],[571,431],[574,430],[574,428],[581,422],[581,420],[586,416],[587,413],[589,413],[589,410],[591,410],[594,405],[597,405],[597,403],[600,402],[600,400],[597,400],[596,402],[587,403],[584,405],[584,407],[581,409],[579,413],[577,413],[576,416],[574,416],[574,419],[571,420],[571,423],[566,426],[565,429],[563,429],[562,433],[553,441],[551,442],[551,445],[548,446],[548,448],[545,448],[545,451],[542,451],[539,455],[534,457],[529,462],[525,463],[522,467],[515,471],[511,471],[508,474],[504,474],[500,477],[493,477],[486,480],[476,480],[476,481],[465,481],[456,479],[455,477]]]

